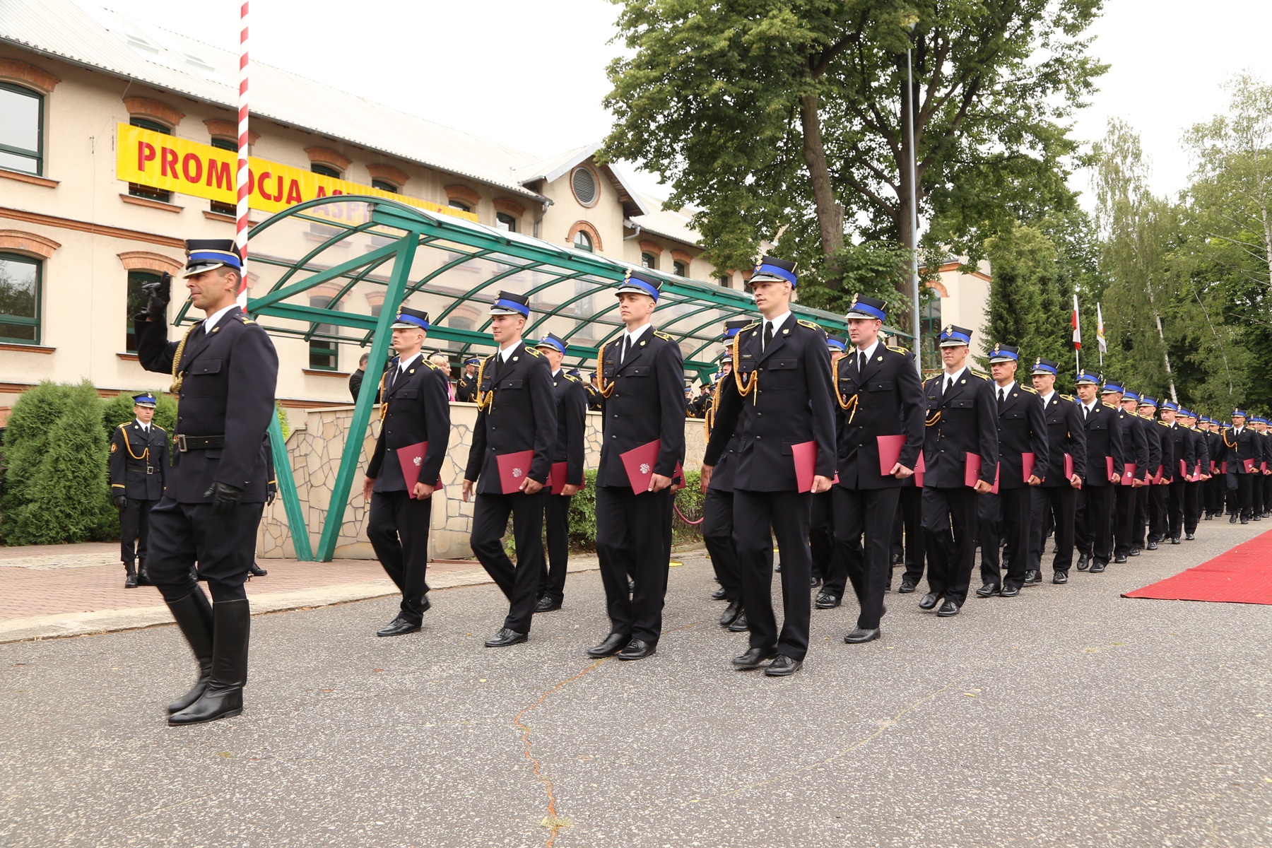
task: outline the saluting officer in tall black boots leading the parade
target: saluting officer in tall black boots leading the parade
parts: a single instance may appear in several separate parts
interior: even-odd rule
[[[235,303],[243,262],[229,239],[186,242],[186,287],[207,318],[168,341],[170,278],[145,286],[136,317],[137,359],[170,371],[177,394],[168,486],[150,511],[150,578],[198,661],[198,680],[168,704],[168,722],[190,725],[243,712],[251,610],[243,582],[270,481],[262,444],[273,416],[279,356]],[[195,562],[212,605],[195,582]]]

